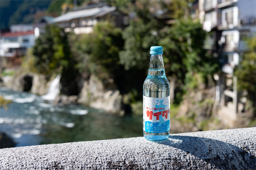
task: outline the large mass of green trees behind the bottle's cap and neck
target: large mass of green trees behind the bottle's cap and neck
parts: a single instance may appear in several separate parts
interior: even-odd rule
[[[203,49],[207,33],[199,21],[189,17],[191,2],[136,1],[134,18],[122,33],[124,50],[119,53],[125,70],[138,73],[148,68],[150,47],[163,46],[166,76],[176,79],[176,103],[182,100],[183,90],[198,88],[201,82],[207,84],[212,74],[220,69],[218,60]],[[163,12],[161,16],[157,14],[159,10]],[[174,18],[175,23],[166,25],[162,16]]]

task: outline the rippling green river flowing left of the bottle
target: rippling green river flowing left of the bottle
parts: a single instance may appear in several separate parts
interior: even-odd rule
[[[15,147],[143,136],[142,116],[116,116],[81,105],[53,106],[40,96],[0,88],[0,130]]]

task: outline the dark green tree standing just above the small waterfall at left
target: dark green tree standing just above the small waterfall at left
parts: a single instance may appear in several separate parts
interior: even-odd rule
[[[61,74],[61,93],[78,94],[76,60],[70,53],[68,37],[62,28],[47,25],[45,33],[35,41],[33,55],[38,73],[48,77],[52,74]]]

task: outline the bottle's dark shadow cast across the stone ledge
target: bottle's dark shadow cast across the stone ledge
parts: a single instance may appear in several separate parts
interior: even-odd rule
[[[221,170],[256,170],[256,157],[245,145],[241,149],[218,140],[193,136],[170,136],[160,144],[183,150]]]

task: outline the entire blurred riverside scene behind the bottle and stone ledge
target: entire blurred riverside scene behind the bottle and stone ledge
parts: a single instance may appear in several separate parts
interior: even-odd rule
[[[256,0],[1,0],[0,147],[143,136],[150,47],[171,133],[255,127]]]

